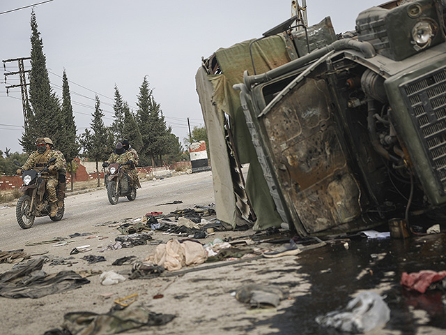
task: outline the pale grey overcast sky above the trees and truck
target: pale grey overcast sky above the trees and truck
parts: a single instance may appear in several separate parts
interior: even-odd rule
[[[43,1],[0,1],[0,60],[29,57],[32,8],[14,9]],[[307,0],[309,25],[330,16],[337,34],[353,30],[360,11],[383,2]],[[137,110],[137,94],[147,75],[167,124],[182,142],[188,133],[187,118],[191,128],[204,126],[194,79],[201,57],[259,38],[291,17],[291,0],[53,0],[33,8],[49,80],[59,97],[66,69],[78,134],[91,123],[95,94],[105,124],[112,123],[115,84],[124,101]],[[24,65],[29,69],[29,61]],[[9,62],[3,73],[17,70],[17,61]],[[6,84],[1,78],[2,151],[22,152],[20,87],[6,95],[6,86],[19,83],[18,75],[8,75]]]

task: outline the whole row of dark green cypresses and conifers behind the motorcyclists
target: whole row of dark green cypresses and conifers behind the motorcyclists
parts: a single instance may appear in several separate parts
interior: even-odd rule
[[[96,95],[90,127],[77,136],[66,70],[63,70],[62,98],[59,98],[50,85],[42,38],[36,15],[31,12],[31,70],[29,105],[26,106],[28,122],[20,139],[26,153],[36,149],[37,137],[50,137],[67,162],[77,156],[104,161],[114,150],[116,142],[127,139],[138,151],[140,165],[155,166],[183,158],[180,140],[167,126],[146,76],[139,87],[137,107],[136,111],[130,109],[115,84],[112,125],[105,126],[102,121],[105,114]]]

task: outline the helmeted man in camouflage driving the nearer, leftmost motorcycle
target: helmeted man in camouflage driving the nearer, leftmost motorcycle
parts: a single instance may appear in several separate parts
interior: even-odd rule
[[[37,150],[33,151],[29,155],[26,163],[17,169],[17,174],[22,174],[23,170],[29,170],[34,168],[35,170],[42,171],[45,163],[47,163],[51,158],[55,157],[56,161],[53,165],[49,165],[48,171],[42,172],[42,177],[46,181],[46,188],[48,193],[49,202],[51,204],[51,211],[49,216],[57,215],[57,193],[56,186],[58,181],[58,170],[63,168],[63,161],[56,151],[52,150],[49,144],[45,141],[44,137],[38,137],[36,140]]]

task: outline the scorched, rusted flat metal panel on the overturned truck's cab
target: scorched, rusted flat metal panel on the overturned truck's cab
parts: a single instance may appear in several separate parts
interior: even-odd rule
[[[324,80],[291,89],[259,121],[269,139],[279,183],[307,232],[360,216],[360,186],[348,167]]]

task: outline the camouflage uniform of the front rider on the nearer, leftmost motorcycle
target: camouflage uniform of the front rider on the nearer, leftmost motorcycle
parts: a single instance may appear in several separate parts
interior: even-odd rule
[[[49,202],[56,203],[57,194],[56,194],[56,186],[59,184],[59,180],[57,179],[58,172],[63,167],[63,161],[59,154],[52,149],[47,149],[43,154],[39,154],[38,151],[33,151],[31,155],[29,155],[26,163],[22,166],[22,170],[29,170],[31,168],[36,168],[36,170],[43,170],[43,164],[47,163],[51,158],[56,157],[56,162],[54,163],[54,168],[51,171],[45,171],[42,173],[42,177],[47,182],[47,193]]]

